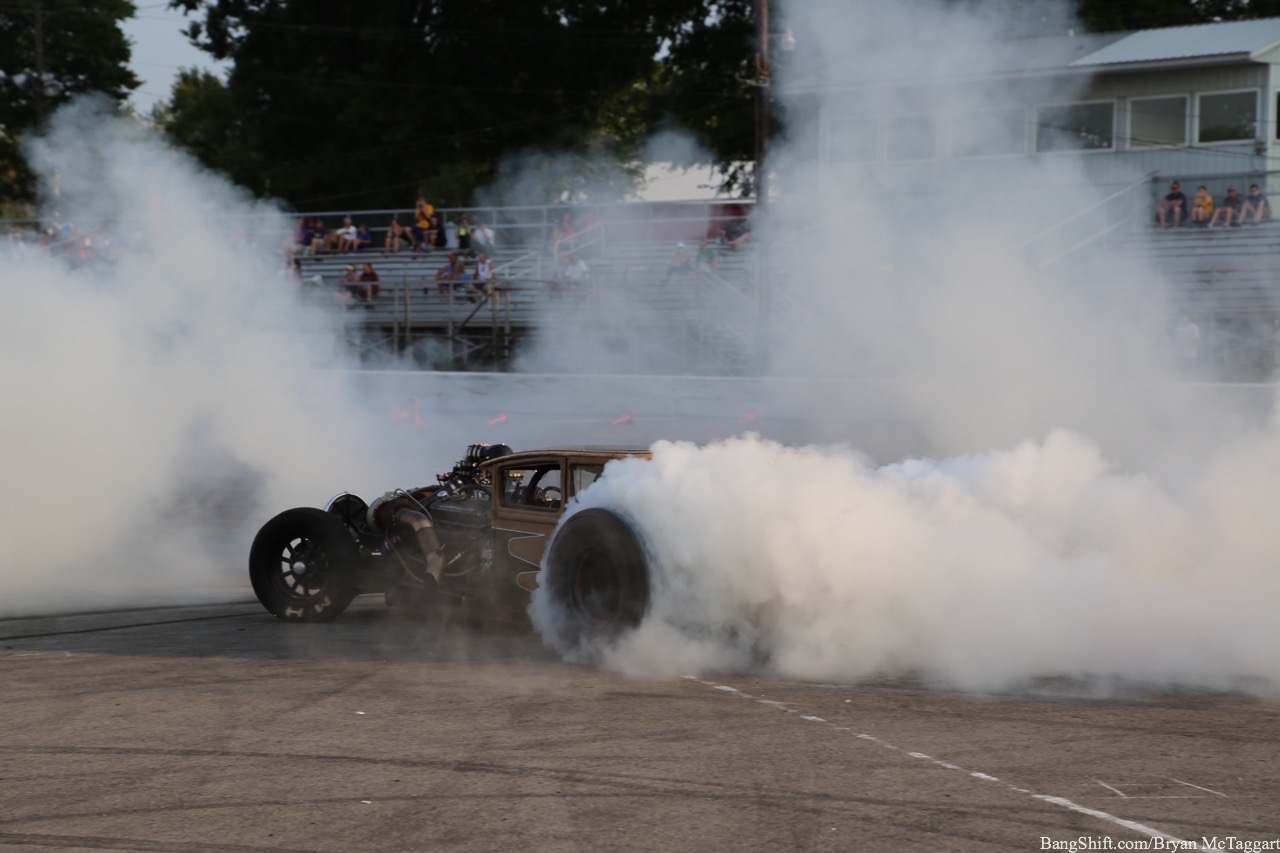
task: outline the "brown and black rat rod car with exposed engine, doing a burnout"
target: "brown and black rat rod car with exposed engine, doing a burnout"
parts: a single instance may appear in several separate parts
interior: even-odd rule
[[[570,639],[632,628],[649,599],[644,548],[603,508],[573,514],[548,548],[567,503],[609,460],[641,448],[512,452],[472,444],[435,485],[366,503],[343,493],[324,510],[285,510],[259,530],[250,579],[262,606],[289,622],[326,621],[361,593],[412,615],[463,607],[474,619],[520,617],[547,588]],[[543,557],[547,569],[539,571]]]

